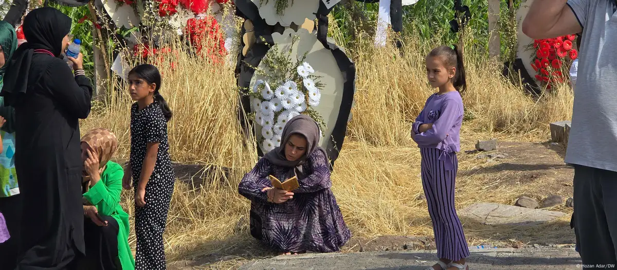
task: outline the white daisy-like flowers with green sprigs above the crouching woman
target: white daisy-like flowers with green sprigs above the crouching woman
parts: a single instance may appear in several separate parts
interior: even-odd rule
[[[281,144],[287,121],[300,113],[315,119],[321,134],[325,130],[323,118],[314,109],[320,103],[324,87],[318,81],[321,76],[314,75],[313,67],[304,62],[306,54],[297,61],[291,59],[291,47],[298,39],[294,36],[287,53],[279,51],[278,45],[274,44],[262,60],[267,70],[252,67],[264,79],[255,81],[252,89],[245,89],[251,96],[255,123],[262,126],[259,145],[263,152]]]

